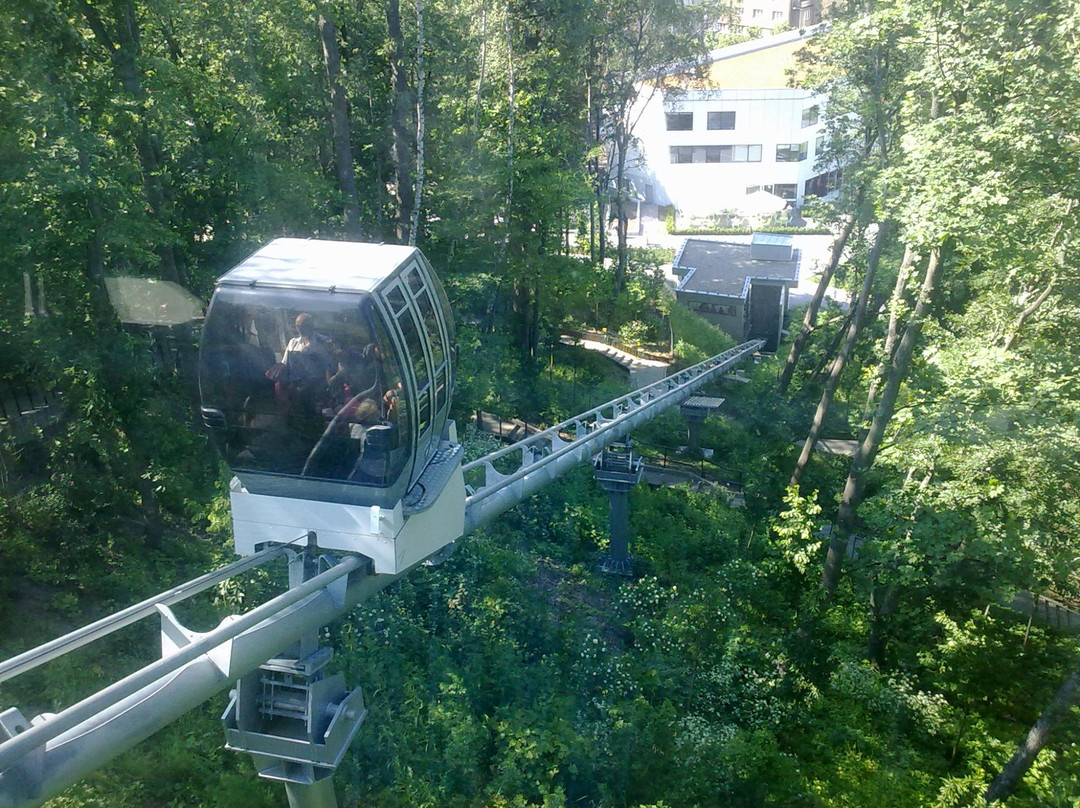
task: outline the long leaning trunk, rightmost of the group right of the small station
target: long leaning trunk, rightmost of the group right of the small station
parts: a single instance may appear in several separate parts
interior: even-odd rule
[[[896,352],[892,358],[892,366],[885,389],[881,392],[881,400],[874,412],[874,419],[870,421],[869,431],[859,444],[855,456],[851,461],[851,471],[848,473],[847,483],[843,486],[843,495],[840,498],[840,509],[837,513],[837,529],[828,543],[828,554],[825,557],[825,566],[822,570],[821,585],[826,592],[833,592],[840,580],[840,567],[843,562],[843,552],[848,547],[848,539],[855,528],[855,519],[859,506],[862,502],[863,491],[866,486],[866,474],[874,466],[878,449],[885,440],[885,431],[892,420],[896,408],[896,396],[900,394],[900,386],[907,377],[907,372],[912,365],[912,356],[915,352],[915,345],[922,333],[922,323],[930,312],[934,284],[937,281],[937,273],[941,267],[942,247],[935,246],[930,254],[930,262],[927,266],[927,273],[922,279],[922,287],[919,289],[919,299],[912,313],[904,335],[900,339]]]

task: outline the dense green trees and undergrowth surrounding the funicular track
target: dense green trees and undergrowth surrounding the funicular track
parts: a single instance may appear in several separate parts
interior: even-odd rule
[[[707,391],[727,399],[712,459],[684,459],[741,485],[635,489],[633,578],[598,571],[607,501],[582,470],[330,627],[370,709],[346,805],[961,806],[995,779],[1009,805],[1080,799],[1076,642],[1011,606],[1080,595],[1080,15],[834,11],[798,79],[829,94],[845,185],[814,218],[850,234],[834,277],[853,305],[810,318],[782,394],[782,358]],[[554,422],[620,392],[565,327],[684,363],[730,345],[618,221],[627,82],[692,65],[716,13],[10,0],[0,396],[49,407],[3,433],[2,656],[230,557],[227,474],[192,418],[197,335],[121,326],[106,278],[205,299],[275,235],[415,242],[453,297],[461,421]],[[818,453],[789,485],[819,401],[814,434],[858,453]],[[669,413],[637,437],[675,455],[685,430]],[[184,619],[212,625],[280,577]],[[156,643],[133,627],[4,683],[0,709],[55,711]],[[221,708],[55,805],[281,804],[219,749]],[[1049,742],[1014,769],[1040,714]]]

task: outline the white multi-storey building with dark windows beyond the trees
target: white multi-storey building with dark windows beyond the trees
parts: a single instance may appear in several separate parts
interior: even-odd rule
[[[715,51],[703,81],[667,76],[662,89],[643,85],[632,162],[645,201],[706,216],[741,210],[759,190],[801,203],[835,187],[833,167],[815,167],[826,99],[787,86],[795,54],[818,30]]]

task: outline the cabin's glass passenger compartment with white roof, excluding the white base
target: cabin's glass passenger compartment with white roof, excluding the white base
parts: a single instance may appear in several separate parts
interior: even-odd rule
[[[392,508],[444,436],[453,346],[420,251],[279,239],[217,282],[203,420],[252,494]]]

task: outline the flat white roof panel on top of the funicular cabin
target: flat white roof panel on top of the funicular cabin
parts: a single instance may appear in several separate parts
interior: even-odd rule
[[[315,239],[275,239],[218,279],[227,286],[372,292],[416,247]]]

